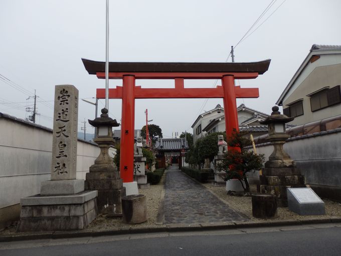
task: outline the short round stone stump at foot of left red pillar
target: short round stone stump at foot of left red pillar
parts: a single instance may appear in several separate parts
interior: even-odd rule
[[[139,224],[147,221],[147,200],[145,195],[122,197],[123,222]]]

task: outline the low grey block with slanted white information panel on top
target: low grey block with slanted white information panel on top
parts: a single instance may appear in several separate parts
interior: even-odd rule
[[[288,208],[299,215],[324,215],[324,202],[311,188],[287,188]]]

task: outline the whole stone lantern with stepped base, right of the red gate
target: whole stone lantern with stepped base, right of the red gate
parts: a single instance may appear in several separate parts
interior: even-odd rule
[[[273,152],[259,176],[260,192],[276,195],[277,205],[283,207],[287,206],[287,187],[305,187],[304,176],[283,149],[285,141],[290,137],[285,134],[285,123],[293,119],[281,114],[278,106],[274,106],[271,115],[260,122],[268,125],[269,136],[266,140],[273,145]]]

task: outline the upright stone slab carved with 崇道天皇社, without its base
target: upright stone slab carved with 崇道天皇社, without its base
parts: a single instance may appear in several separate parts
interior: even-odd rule
[[[76,179],[78,90],[56,85],[51,180]]]

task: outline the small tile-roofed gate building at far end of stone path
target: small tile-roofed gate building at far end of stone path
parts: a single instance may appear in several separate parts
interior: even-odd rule
[[[158,168],[165,168],[166,162],[168,164],[179,164],[179,168],[183,165],[187,165],[185,163],[185,152],[188,149],[188,142],[185,138],[158,138],[155,144]]]

